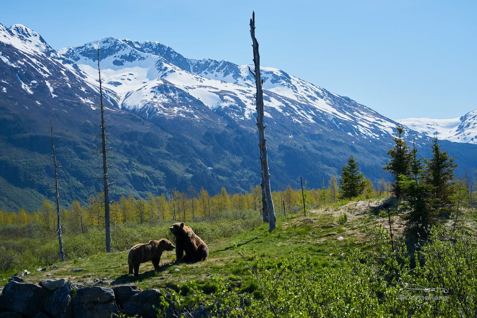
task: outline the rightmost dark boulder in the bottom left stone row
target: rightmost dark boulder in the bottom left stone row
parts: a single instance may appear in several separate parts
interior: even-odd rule
[[[141,293],[132,295],[129,301],[123,304],[126,315],[139,315],[143,318],[156,317],[158,311],[153,308],[163,309],[161,304],[162,293],[158,289],[147,289]]]

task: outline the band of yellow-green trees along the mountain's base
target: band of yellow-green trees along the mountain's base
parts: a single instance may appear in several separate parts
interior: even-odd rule
[[[370,194],[371,195],[371,194]],[[372,193],[372,195],[377,195]],[[283,191],[275,191],[272,197],[277,202],[277,216],[302,211],[301,189],[293,190],[289,185]],[[332,176],[321,189],[305,188],[305,204],[308,208],[336,202],[340,199],[337,179]],[[105,226],[103,193],[90,197],[88,204],[73,201],[69,208],[61,208],[61,224],[64,233],[81,233],[90,227]],[[211,196],[205,189],[187,192],[171,191],[171,194],[147,198],[121,196],[111,202],[111,224],[114,225],[154,225],[171,221],[217,220],[228,214],[238,214],[242,210],[255,210],[261,214],[262,190],[251,187],[246,193],[229,194],[225,188]],[[285,208],[285,210],[283,209]],[[0,226],[37,224],[45,230],[56,231],[56,212],[52,202],[45,200],[37,211],[28,212],[0,210]]]

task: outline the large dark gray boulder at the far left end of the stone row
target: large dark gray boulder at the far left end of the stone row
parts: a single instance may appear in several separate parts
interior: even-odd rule
[[[10,280],[2,293],[4,307],[27,317],[34,317],[43,310],[47,291],[35,284],[21,284]]]

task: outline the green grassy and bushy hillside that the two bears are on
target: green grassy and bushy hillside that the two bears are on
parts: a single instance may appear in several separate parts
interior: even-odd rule
[[[81,248],[94,240],[102,248],[100,231],[76,240],[65,235],[66,249],[77,244],[69,260],[56,263],[56,269],[25,260],[17,273],[28,269],[26,280],[34,282],[69,277],[84,285],[164,289],[169,313],[185,316],[471,316],[477,310],[475,214],[459,217],[456,230],[451,219],[441,219],[443,226],[422,236],[407,223],[405,211],[394,210],[393,252],[388,203],[374,199],[312,210],[306,217],[279,219],[271,233],[256,214],[245,212],[189,223],[208,243],[210,258],[175,264],[174,252],[165,252],[159,272],[142,264],[138,277],[128,275],[125,248],[151,238],[172,239],[168,225],[117,229],[113,245],[121,248],[109,254]],[[54,246],[54,237],[48,244]],[[413,257],[419,260],[415,268]],[[47,270],[35,271],[39,266]],[[14,273],[2,272],[0,278]],[[430,289],[410,290],[406,284]]]

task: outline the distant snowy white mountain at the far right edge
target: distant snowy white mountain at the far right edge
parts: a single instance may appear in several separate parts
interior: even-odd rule
[[[439,140],[477,144],[477,110],[452,119],[405,118],[396,122]]]

